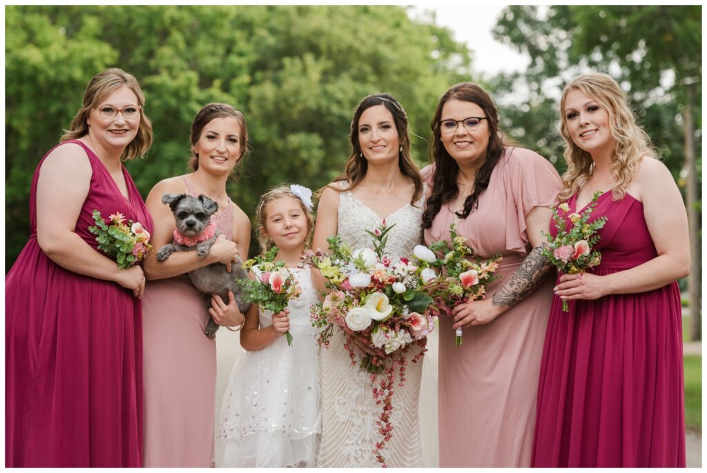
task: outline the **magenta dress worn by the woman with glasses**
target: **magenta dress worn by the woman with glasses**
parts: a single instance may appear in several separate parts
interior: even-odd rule
[[[151,232],[127,170],[129,200],[86,145],[66,143],[81,145],[93,170],[76,234],[98,246],[88,232],[94,209],[105,220],[121,212]],[[42,252],[36,206],[44,159],[32,181],[30,239],[5,280],[5,466],[140,467],[141,303],[131,290],[73,273]]]

